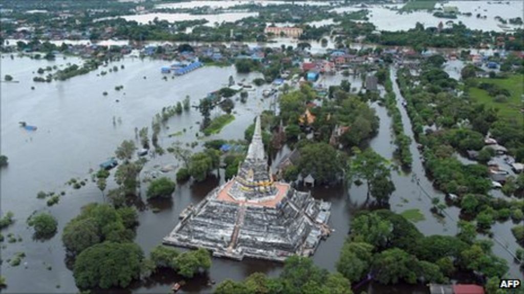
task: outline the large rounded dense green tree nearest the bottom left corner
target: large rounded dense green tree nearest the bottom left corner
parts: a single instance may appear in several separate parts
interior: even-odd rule
[[[78,255],[73,277],[81,289],[125,288],[139,278],[143,258],[144,253],[134,243],[96,244]]]

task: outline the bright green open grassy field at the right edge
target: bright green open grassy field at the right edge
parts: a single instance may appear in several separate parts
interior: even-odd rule
[[[495,84],[500,88],[507,89],[509,93],[511,93],[507,102],[499,103],[495,101],[494,97],[489,96],[485,90],[471,87],[470,96],[478,103],[483,103],[487,106],[493,106],[494,108],[499,109],[499,114],[503,118],[515,118],[520,115],[520,108],[522,107],[521,96],[524,92],[522,86],[524,75],[517,74],[508,78],[477,78],[476,81],[479,84]]]

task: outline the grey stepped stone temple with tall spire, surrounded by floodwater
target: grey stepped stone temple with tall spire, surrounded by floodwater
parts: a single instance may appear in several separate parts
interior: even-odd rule
[[[260,118],[237,175],[189,206],[164,244],[203,247],[214,256],[284,261],[314,253],[330,232],[330,202],[274,182],[267,165]]]

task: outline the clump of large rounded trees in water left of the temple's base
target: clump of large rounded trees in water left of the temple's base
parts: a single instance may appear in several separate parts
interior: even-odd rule
[[[132,243],[137,219],[134,208],[91,203],[65,225],[62,241],[78,287],[126,287],[139,277],[143,253]]]

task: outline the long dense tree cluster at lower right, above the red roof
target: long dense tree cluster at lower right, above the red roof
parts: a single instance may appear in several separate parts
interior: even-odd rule
[[[476,241],[474,224],[462,221],[457,236],[424,236],[389,210],[362,212],[352,222],[337,270],[351,282],[368,274],[381,284],[447,282],[457,270],[500,278],[506,261],[491,252],[492,242]]]

